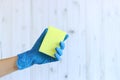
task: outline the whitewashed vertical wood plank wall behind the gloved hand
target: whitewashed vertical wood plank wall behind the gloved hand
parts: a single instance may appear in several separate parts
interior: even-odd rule
[[[70,35],[62,61],[0,80],[120,80],[120,0],[0,0],[0,58],[30,49],[48,25]]]

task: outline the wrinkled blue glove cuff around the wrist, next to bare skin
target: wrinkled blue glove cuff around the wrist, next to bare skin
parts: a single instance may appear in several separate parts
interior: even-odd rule
[[[16,61],[16,65],[19,70],[25,69],[33,65],[32,54],[30,51],[18,54],[18,59]]]

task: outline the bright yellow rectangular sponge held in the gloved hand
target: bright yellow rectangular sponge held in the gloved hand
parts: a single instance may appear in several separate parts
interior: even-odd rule
[[[39,51],[55,58],[55,48],[59,47],[59,43],[64,40],[66,32],[59,30],[55,27],[49,26]]]

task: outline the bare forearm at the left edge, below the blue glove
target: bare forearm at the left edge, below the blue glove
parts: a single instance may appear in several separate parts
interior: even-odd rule
[[[0,60],[0,77],[17,70],[17,56]]]

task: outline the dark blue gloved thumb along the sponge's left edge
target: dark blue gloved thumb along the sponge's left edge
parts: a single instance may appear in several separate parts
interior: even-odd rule
[[[40,35],[40,37],[38,38],[38,40],[36,41],[36,43],[34,44],[33,48],[32,49],[39,49],[46,33],[47,33],[48,29],[46,28],[43,33]]]

